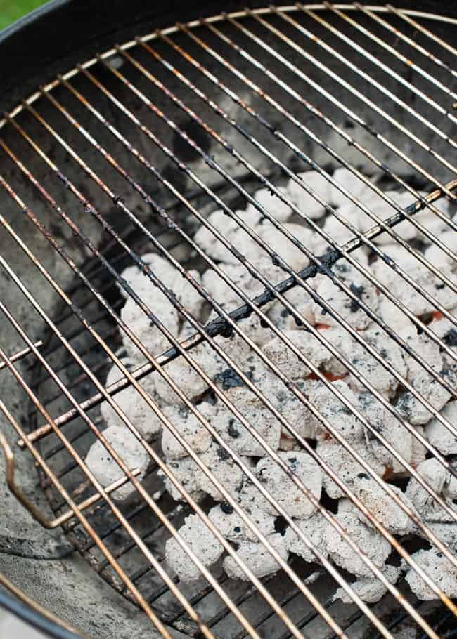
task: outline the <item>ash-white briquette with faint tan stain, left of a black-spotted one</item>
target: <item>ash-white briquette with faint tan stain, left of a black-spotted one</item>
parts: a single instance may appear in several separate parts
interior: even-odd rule
[[[214,414],[214,406],[204,402],[199,404],[198,411],[206,418],[211,419]],[[204,453],[211,445],[211,435],[200,419],[184,406],[167,406],[163,410],[165,416],[193,449],[193,452]],[[188,456],[186,449],[173,435],[167,426],[162,427],[162,452],[165,459],[181,459]]]

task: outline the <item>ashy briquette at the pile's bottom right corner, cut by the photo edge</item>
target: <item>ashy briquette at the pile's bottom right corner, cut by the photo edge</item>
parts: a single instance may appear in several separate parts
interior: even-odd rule
[[[427,576],[448,597],[457,597],[457,568],[451,564],[448,558],[435,548],[421,550],[413,553],[411,558],[427,573]],[[438,599],[438,595],[432,591],[415,569],[410,568],[406,573],[406,581],[418,599],[431,601]]]

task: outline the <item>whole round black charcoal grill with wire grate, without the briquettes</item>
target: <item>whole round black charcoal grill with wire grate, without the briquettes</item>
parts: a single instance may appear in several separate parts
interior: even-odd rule
[[[101,402],[115,408],[116,393],[133,385],[153,411],[161,411],[139,381],[149,375],[167,378],[167,364],[176,357],[195,367],[193,348],[203,340],[255,391],[249,376],[231,360],[229,348],[222,350],[214,338],[242,334],[237,322],[252,314],[271,327],[265,308],[274,298],[326,343],[325,331],[316,331],[283,294],[301,286],[304,294],[316,297],[313,279],[317,274],[334,277],[331,269],[342,259],[363,272],[355,259],[358,251],[370,251],[372,258],[382,259],[382,246],[373,243],[381,234],[390,235],[392,243],[408,246],[453,294],[457,292],[449,274],[425,259],[420,242],[410,246],[396,232],[397,224],[408,218],[428,243],[456,258],[415,218],[427,207],[456,231],[455,218],[444,218],[437,206],[442,199],[453,203],[456,198],[455,8],[444,9],[433,1],[403,2],[399,8],[228,2],[224,10],[230,13],[208,11],[198,3],[148,9],[138,2],[96,7],[56,2],[6,32],[1,41],[5,114],[0,121],[0,443],[6,480],[0,534],[1,602],[56,637],[452,637],[455,602],[413,562],[412,542],[396,539],[366,509],[363,512],[390,539],[399,560],[403,558],[427,580],[435,601],[418,601],[400,581],[396,586],[386,583],[387,595],[368,605],[352,591],[348,574],[319,557],[318,551],[321,562],[314,565],[285,562],[276,553],[281,572],[257,579],[246,569],[249,580],[241,584],[218,569],[205,568],[188,549],[189,561],[197,562],[202,578],[195,584],[181,584],[167,567],[164,548],[169,536],[179,537],[177,531],[188,513],[198,513],[207,522],[227,553],[234,550],[207,519],[205,503],[196,503],[176,481],[188,502],[176,503],[164,491],[159,471],[174,480],[157,441],[146,440],[129,415],[122,415],[150,454],[146,479],[139,482],[139,470],[128,468],[118,457],[124,476],[101,486],[84,464],[89,446],[97,437],[103,438]],[[81,28],[75,29],[75,24]],[[24,55],[26,45],[30,48]],[[300,183],[297,172],[314,169],[334,183],[333,171],[339,166],[354,171],[384,197],[392,215],[380,219],[346,192],[371,217],[372,227],[363,234],[352,227],[353,239],[342,246],[325,237],[328,251],[320,255],[283,229],[303,251],[304,265],[309,261],[302,270],[293,271],[236,211],[249,202],[281,229],[274,210],[262,209],[252,193],[266,186],[290,204],[278,188],[284,180]],[[307,184],[300,185],[310,192]],[[385,185],[407,190],[411,205],[401,209],[382,195]],[[319,201],[317,193],[311,195]],[[328,216],[339,216],[328,202],[320,201]],[[280,284],[273,286],[250,263],[249,255],[228,246],[264,286],[262,294],[250,299],[230,284],[223,265],[211,262],[195,244],[195,231],[208,226],[207,216],[217,208],[262,243],[265,254],[283,269]],[[306,211],[296,206],[294,211],[300,223],[323,235],[321,224],[309,220]],[[221,235],[219,239],[224,242]],[[219,317],[204,325],[180,308],[195,327],[193,336],[179,343],[160,325],[172,348],[149,353],[120,319],[124,297],[119,291],[122,286],[127,296],[135,298],[120,274],[136,264],[151,286],[177,304],[173,291],[141,259],[151,251],[165,256],[188,279],[189,268],[201,270],[211,264],[235,286],[243,303],[222,308],[194,282]],[[410,282],[430,299],[408,272],[392,261],[388,265],[399,280]],[[386,289],[366,270],[364,275],[374,281],[380,294],[401,306],[395,290]],[[334,281],[362,304],[354,291]],[[139,313],[157,324],[154,309],[138,296],[136,302]],[[376,312],[362,307],[380,329],[405,346]],[[333,312],[325,303],[323,310]],[[456,359],[430,329],[430,317],[402,310],[418,330]],[[457,325],[452,312],[439,303],[436,310]],[[357,331],[341,322],[348,335],[363,342]],[[279,329],[273,330],[281,336]],[[143,364],[133,370],[120,360],[123,332],[143,356]],[[294,348],[283,339],[285,348]],[[364,345],[395,374],[382,355]],[[246,348],[256,348],[249,338]],[[335,355],[345,360],[342,353]],[[456,388],[435,373],[420,353],[412,356],[457,397]],[[306,358],[303,361],[312,369]],[[124,377],[106,387],[112,362]],[[309,405],[300,388],[274,362],[269,364],[285,390]],[[321,371],[316,369],[315,375],[329,386]],[[168,381],[174,384],[169,376]],[[219,386],[210,379],[207,382],[224,401]],[[401,383],[408,386],[404,379]],[[180,394],[176,384],[174,390]],[[395,414],[395,407],[380,393],[369,386],[368,390]],[[198,416],[198,406],[182,393],[180,397]],[[340,399],[366,422],[350,402]],[[284,426],[290,426],[271,402],[269,408]],[[319,416],[318,408],[311,409]],[[243,414],[238,411],[237,416],[259,437]],[[331,421],[321,419],[331,436],[340,437]],[[456,425],[441,419],[456,435]],[[177,435],[174,424],[163,420]],[[364,425],[373,437],[382,437],[370,423]],[[211,424],[205,422],[205,427],[226,455],[255,479],[252,469]],[[404,428],[413,430],[406,422]],[[309,442],[291,427],[290,432],[322,465]],[[416,431],[413,435],[420,437]],[[182,438],[181,443],[211,478],[211,470]],[[384,443],[401,461],[394,447]],[[344,440],[342,444],[357,458],[350,444]],[[425,445],[429,456],[436,456],[455,475],[453,459],[428,442]],[[286,468],[275,451],[268,452]],[[363,459],[359,461],[366,473],[374,475]],[[404,466],[443,505],[416,469],[406,462]],[[337,480],[325,464],[323,470]],[[307,494],[297,477],[294,481]],[[120,503],[115,491],[126,482],[136,492]],[[236,508],[224,487],[218,488]],[[259,489],[272,499],[261,484]],[[351,489],[345,492],[364,508]],[[394,492],[391,496],[398,500]],[[331,525],[337,526],[331,503],[321,508]],[[446,510],[449,520],[456,522],[456,511],[449,506]],[[287,512],[280,513],[285,522],[292,522]],[[247,515],[240,514],[255,529]],[[425,523],[418,524],[430,544],[457,565],[449,548]],[[303,533],[300,536],[310,543]],[[262,541],[274,555],[268,541]],[[371,560],[363,560],[375,577],[386,582]],[[338,586],[352,594],[353,605],[335,600]]]

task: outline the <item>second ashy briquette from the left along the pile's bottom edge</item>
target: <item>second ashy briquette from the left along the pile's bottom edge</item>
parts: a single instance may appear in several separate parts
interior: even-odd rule
[[[283,537],[280,534],[272,534],[266,537],[266,539],[278,555],[280,555],[284,561],[287,561],[288,552],[285,549]],[[259,579],[278,572],[278,570],[281,569],[281,566],[269,553],[264,544],[255,543],[255,541],[244,541],[240,544],[236,554]],[[249,581],[250,579],[247,577],[247,574],[245,574],[243,568],[240,567],[231,556],[224,559],[224,570],[230,579],[241,579],[242,581]]]

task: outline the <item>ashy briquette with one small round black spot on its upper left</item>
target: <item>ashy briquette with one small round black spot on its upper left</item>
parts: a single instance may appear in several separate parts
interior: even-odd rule
[[[274,522],[276,518],[272,515],[264,513],[263,510],[255,508],[255,506],[244,508],[243,512],[252,520],[259,532],[265,536],[275,532]],[[228,541],[235,541],[236,543],[240,541],[258,541],[257,534],[250,529],[236,510],[233,510],[233,507],[229,506],[228,503],[213,506],[208,516],[221,535]]]

